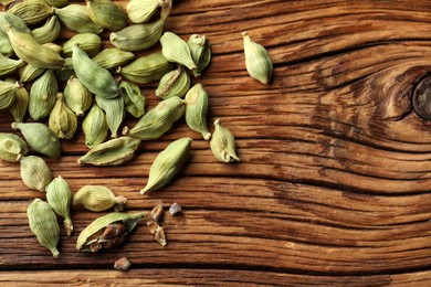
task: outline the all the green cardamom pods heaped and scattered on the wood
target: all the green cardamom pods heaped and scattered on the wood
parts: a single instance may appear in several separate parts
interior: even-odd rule
[[[77,160],[81,164],[123,164],[134,157],[141,140],[161,137],[183,116],[191,130],[210,140],[219,161],[240,160],[234,137],[220,119],[213,123],[212,135],[207,127],[204,87],[199,83],[191,86],[191,77],[198,78],[210,63],[208,38],[193,34],[186,42],[164,32],[171,0],[130,0],[127,9],[111,0],[1,3],[0,109],[9,109],[15,120],[11,128],[20,130],[25,140],[12,132],[0,134],[0,158],[20,163],[29,189],[46,192],[46,202],[35,199],[29,205],[28,217],[31,231],[54,257],[59,256],[60,240],[56,216],[64,219],[71,235],[71,205],[95,212],[115,208],[81,232],[76,248],[83,252],[116,246],[146,216],[145,212],[119,212],[126,199],[106,187],[85,185],[73,195],[65,179],[52,179],[43,156],[60,158],[59,139],[74,137],[78,117],[83,117],[82,130],[90,148]],[[75,33],[60,45],[62,29]],[[104,30],[111,31],[112,47],[101,50],[98,34]],[[134,54],[157,43],[161,52]],[[273,66],[266,50],[244,33],[244,52],[249,74],[267,84]],[[160,102],[147,111],[141,87],[154,81],[159,81],[155,95]],[[126,114],[138,120],[134,127],[119,130]],[[157,156],[141,194],[161,189],[176,177],[188,159],[191,141],[189,137],[175,140]]]

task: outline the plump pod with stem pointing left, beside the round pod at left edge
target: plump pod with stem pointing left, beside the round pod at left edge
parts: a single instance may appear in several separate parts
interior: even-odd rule
[[[60,158],[60,141],[49,127],[40,123],[12,123],[12,129],[21,130],[29,146],[50,158]]]

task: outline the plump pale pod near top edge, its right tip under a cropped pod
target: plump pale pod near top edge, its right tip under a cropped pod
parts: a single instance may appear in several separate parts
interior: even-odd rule
[[[103,26],[94,23],[90,19],[87,8],[85,6],[69,4],[64,8],[55,8],[54,13],[69,30],[77,33],[99,34],[103,31]]]

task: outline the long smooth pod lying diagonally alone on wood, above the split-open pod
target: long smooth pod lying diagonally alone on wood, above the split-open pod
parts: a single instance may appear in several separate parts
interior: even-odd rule
[[[191,141],[191,138],[177,139],[157,156],[149,169],[147,185],[140,191],[140,194],[159,190],[181,171],[189,157]]]

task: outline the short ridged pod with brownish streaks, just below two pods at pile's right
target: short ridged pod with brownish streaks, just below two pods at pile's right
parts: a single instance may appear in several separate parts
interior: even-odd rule
[[[164,75],[156,89],[156,96],[167,99],[170,97],[183,97],[190,88],[189,74],[178,65],[177,70],[170,71]]]

